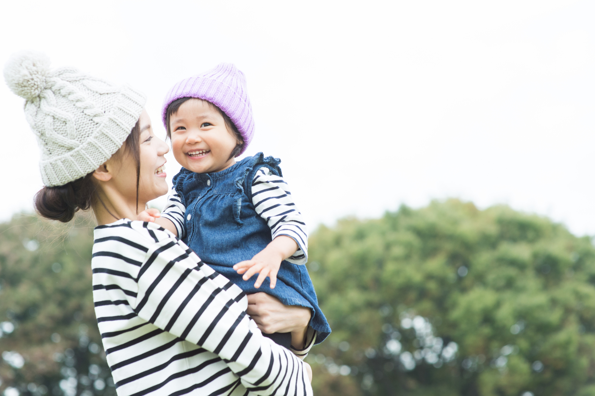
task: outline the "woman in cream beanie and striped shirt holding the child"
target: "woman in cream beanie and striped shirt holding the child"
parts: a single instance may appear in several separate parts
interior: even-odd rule
[[[167,193],[169,149],[145,97],[73,68],[49,70],[39,54],[14,56],[4,74],[27,99],[42,147],[37,211],[67,222],[90,208],[98,221],[93,299],[118,395],[311,394],[307,364],[259,331],[291,332],[303,354],[308,309],[246,297],[171,232],[134,221]]]

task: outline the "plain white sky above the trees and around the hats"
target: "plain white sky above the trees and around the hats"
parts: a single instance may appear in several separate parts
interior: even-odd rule
[[[12,1],[2,15],[0,64],[34,49],[127,82],[159,136],[171,85],[234,62],[247,153],[283,160],[311,229],[460,197],[595,234],[594,2]],[[42,186],[22,105],[0,84],[0,220]]]

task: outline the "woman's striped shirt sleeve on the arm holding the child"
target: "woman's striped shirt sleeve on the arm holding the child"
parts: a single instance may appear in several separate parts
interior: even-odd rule
[[[302,362],[262,336],[237,285],[170,232],[154,223],[132,223],[143,224],[153,239],[141,265],[131,264],[136,297],[126,301],[139,318],[217,354],[251,394],[312,394]]]

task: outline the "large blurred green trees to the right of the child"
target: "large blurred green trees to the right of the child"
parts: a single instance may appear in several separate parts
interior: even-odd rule
[[[589,237],[447,200],[322,226],[309,260],[317,394],[595,395]]]

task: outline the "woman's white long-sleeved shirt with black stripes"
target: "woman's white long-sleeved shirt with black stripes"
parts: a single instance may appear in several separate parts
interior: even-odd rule
[[[96,227],[92,269],[119,396],[312,394],[302,361],[246,314],[243,291],[164,228]]]

